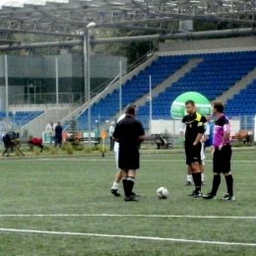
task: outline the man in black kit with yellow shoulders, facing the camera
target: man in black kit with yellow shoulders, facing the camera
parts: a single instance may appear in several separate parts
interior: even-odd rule
[[[188,99],[185,102],[187,115],[182,118],[182,123],[186,125],[184,138],[186,164],[191,169],[195,184],[195,190],[189,195],[195,198],[202,197],[201,193],[201,139],[204,136],[204,123],[207,122],[205,116],[196,112],[195,102]]]

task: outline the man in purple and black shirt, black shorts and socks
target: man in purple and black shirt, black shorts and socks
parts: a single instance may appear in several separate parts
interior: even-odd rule
[[[227,193],[222,200],[235,200],[233,196],[233,178],[230,171],[232,150],[230,147],[230,124],[224,115],[224,104],[221,101],[212,103],[213,113],[216,116],[214,126],[214,180],[210,193],[204,199],[216,199],[221,184],[221,173],[224,173]]]

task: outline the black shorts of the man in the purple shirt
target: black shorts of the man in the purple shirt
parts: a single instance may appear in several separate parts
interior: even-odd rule
[[[225,173],[230,171],[231,156],[232,150],[230,145],[225,145],[221,151],[219,148],[215,148],[213,171],[217,173]]]

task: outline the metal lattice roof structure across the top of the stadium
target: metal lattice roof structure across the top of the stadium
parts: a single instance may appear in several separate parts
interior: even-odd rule
[[[81,36],[97,28],[151,28],[152,24],[203,20],[253,25],[256,0],[28,0],[0,9],[0,32]]]

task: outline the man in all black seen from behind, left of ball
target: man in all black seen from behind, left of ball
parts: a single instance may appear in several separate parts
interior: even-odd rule
[[[145,139],[142,123],[135,119],[136,105],[129,104],[125,117],[115,127],[113,140],[119,143],[118,167],[123,172],[124,201],[138,201],[133,193],[136,169],[140,168],[139,148]]]

